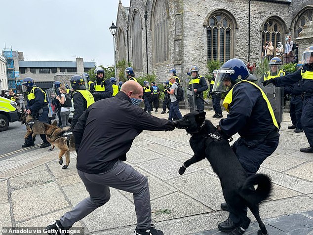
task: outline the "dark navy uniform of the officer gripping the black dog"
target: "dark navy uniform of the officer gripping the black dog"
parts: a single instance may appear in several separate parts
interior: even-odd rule
[[[258,87],[240,82],[234,86],[232,97],[229,114],[220,120],[219,126],[229,136],[240,135],[232,148],[249,176],[274,153],[279,141],[278,128]],[[247,208],[243,211],[247,213]],[[240,222],[233,213],[229,217],[235,224]]]

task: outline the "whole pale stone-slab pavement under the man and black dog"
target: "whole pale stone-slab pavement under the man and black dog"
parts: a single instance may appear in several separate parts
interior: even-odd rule
[[[160,113],[153,115],[168,118]],[[212,115],[207,111],[206,117],[218,124]],[[260,206],[260,215],[269,234],[309,235],[313,234],[313,154],[299,151],[308,142],[304,133],[288,130],[290,124],[289,114],[284,113],[278,148],[260,169],[274,183],[274,193]],[[193,155],[189,138],[180,129],[144,131],[127,153],[127,163],[148,177],[153,222],[165,235],[224,235],[217,225],[228,213],[220,208],[222,190],[209,162],[202,160],[178,174]],[[37,147],[0,158],[0,230],[45,227],[88,196],[77,174],[76,153],[71,153],[69,167],[62,169],[58,152]],[[257,234],[255,218],[250,212],[248,216],[252,222],[245,234]],[[96,235],[130,235],[135,226],[132,195],[115,189],[108,203],[74,225]]]

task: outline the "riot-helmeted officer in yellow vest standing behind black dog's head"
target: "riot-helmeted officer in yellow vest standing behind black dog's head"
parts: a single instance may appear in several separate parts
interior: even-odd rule
[[[204,111],[203,91],[208,89],[208,85],[204,77],[199,76],[199,69],[193,66],[190,69],[191,79],[188,84],[188,102],[190,104],[190,111],[198,110]]]

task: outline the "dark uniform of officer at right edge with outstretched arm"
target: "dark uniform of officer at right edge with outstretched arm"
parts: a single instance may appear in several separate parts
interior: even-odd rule
[[[306,64],[292,74],[271,79],[275,86],[290,85],[298,81],[303,94],[301,124],[310,147],[313,148],[313,65]]]

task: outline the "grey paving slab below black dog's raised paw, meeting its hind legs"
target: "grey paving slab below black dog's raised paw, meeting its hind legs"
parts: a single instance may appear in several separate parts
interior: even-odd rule
[[[224,197],[217,177],[198,171],[167,182],[209,208],[221,210],[220,204],[224,202]]]

